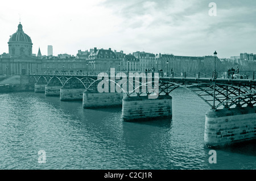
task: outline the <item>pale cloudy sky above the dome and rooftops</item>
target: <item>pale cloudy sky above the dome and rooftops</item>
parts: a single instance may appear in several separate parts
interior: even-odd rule
[[[216,16],[210,16],[216,4]],[[9,0],[1,2],[0,54],[10,35],[31,37],[32,53],[53,55],[112,48],[219,58],[256,54],[255,0]]]

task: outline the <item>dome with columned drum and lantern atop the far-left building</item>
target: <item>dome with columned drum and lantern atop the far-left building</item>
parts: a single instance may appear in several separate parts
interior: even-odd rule
[[[19,23],[18,30],[10,36],[9,39],[9,54],[20,55],[26,54],[32,56],[32,41],[30,36],[24,33],[22,24]]]

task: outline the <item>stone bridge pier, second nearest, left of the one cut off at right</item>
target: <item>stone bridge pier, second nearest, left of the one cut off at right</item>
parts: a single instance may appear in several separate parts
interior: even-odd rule
[[[122,118],[124,121],[172,118],[172,97],[159,95],[157,99],[148,96],[123,96]]]

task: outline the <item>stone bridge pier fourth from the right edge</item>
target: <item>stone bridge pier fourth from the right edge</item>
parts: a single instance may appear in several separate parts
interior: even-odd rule
[[[82,100],[82,92],[85,89],[67,89],[62,87],[60,89],[60,100]]]

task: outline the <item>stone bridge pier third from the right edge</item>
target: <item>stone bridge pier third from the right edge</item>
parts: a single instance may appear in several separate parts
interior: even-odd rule
[[[82,98],[82,107],[84,108],[104,108],[121,107],[122,93],[99,93],[96,91],[84,91]]]

